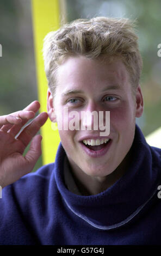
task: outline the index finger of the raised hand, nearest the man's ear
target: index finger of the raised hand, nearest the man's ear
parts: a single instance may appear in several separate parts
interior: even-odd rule
[[[24,146],[27,147],[32,138],[40,130],[40,127],[45,124],[47,118],[48,114],[46,112],[39,114],[38,117],[24,128],[17,139],[20,139]]]

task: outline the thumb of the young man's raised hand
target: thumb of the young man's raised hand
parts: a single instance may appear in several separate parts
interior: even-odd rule
[[[28,162],[29,164],[29,169],[28,172],[31,172],[32,169],[35,166],[35,163],[38,161],[40,155],[41,155],[41,140],[42,136],[41,135],[36,135],[30,144],[30,148],[28,152],[26,153],[26,156],[24,156],[24,159]]]

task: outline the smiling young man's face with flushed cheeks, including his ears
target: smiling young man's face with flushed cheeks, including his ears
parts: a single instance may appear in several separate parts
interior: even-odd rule
[[[57,115],[58,127],[65,109],[69,114],[76,111],[79,123],[84,122],[85,127],[94,127],[94,119],[82,120],[82,111],[110,112],[110,134],[105,136],[109,141],[93,149],[83,140],[91,142],[91,139],[104,138],[100,136],[99,127],[98,130],[59,130],[72,169],[90,176],[111,174],[125,159],[133,143],[135,117],[143,112],[140,87],[134,95],[129,74],[120,59],[103,63],[100,59],[83,56],[69,57],[60,65],[57,80],[54,105],[48,93],[48,111]],[[69,119],[65,115],[64,124],[67,125]]]

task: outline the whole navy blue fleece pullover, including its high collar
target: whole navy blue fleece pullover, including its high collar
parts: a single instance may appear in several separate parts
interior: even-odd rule
[[[131,167],[95,196],[70,192],[66,153],[55,163],[5,187],[0,199],[0,245],[161,245],[161,149],[136,125]]]

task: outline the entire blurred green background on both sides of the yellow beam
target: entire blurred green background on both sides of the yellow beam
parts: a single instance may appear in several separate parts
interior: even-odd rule
[[[157,52],[161,43],[161,1],[66,0],[65,5],[67,21],[94,16],[138,20],[137,34],[144,62],[140,80],[144,114],[137,123],[145,136],[160,127],[161,57]],[[0,115],[4,115],[38,100],[30,0],[0,1],[0,44]],[[34,170],[41,165],[40,157]]]

